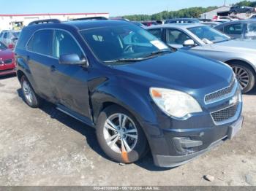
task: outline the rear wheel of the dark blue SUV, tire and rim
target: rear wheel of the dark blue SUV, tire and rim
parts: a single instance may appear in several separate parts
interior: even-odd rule
[[[26,104],[28,104],[32,108],[37,108],[38,106],[40,106],[42,104],[42,99],[39,98],[39,96],[34,92],[34,89],[26,76],[23,75],[21,77],[20,84]]]

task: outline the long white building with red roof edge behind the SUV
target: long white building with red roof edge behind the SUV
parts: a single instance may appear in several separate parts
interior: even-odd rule
[[[27,26],[34,20],[59,19],[61,21],[82,17],[109,17],[108,13],[54,13],[54,14],[26,14],[26,15],[0,15],[0,31],[18,29]]]

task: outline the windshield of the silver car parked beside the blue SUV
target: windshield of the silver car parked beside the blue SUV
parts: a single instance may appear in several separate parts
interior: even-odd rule
[[[221,32],[211,28],[209,26],[197,26],[193,28],[188,28],[192,34],[195,34],[199,39],[201,39],[206,44],[223,42],[230,40],[230,37],[222,34]]]

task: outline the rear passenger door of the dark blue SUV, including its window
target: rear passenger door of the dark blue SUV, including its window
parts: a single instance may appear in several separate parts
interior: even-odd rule
[[[28,50],[26,60],[29,63],[34,82],[39,93],[48,98],[48,101],[54,101],[50,87],[50,66],[56,60],[52,57],[52,42],[53,30],[44,29],[35,32],[26,47]]]

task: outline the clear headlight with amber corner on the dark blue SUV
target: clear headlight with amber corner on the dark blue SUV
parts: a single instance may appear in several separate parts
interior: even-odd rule
[[[202,112],[195,98],[187,93],[157,87],[151,87],[149,91],[157,106],[171,117],[182,118],[187,114]]]

